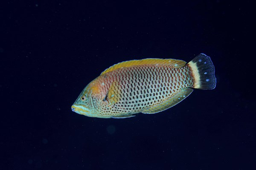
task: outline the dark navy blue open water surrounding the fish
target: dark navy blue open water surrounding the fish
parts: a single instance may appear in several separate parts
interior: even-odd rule
[[[254,170],[253,4],[15,1],[1,5],[3,170]],[[161,113],[99,119],[70,107],[106,68],[209,55],[214,90]]]

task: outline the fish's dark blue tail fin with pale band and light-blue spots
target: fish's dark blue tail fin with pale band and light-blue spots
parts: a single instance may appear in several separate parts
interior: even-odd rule
[[[210,57],[205,54],[199,54],[187,65],[189,65],[194,77],[194,87],[192,88],[203,90],[215,88],[215,69]]]

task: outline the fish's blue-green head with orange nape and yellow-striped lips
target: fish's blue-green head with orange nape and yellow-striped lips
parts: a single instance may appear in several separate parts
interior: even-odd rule
[[[78,96],[74,104],[71,106],[72,111],[89,117],[99,117],[99,103],[101,101],[100,90],[95,81],[90,82],[81,94]]]

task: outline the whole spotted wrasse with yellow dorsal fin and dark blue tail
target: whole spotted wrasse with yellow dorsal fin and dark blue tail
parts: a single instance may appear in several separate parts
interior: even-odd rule
[[[90,117],[127,118],[157,113],[185,99],[193,88],[213,89],[215,69],[199,54],[189,63],[178,59],[140,59],[111,66],[81,92],[72,111]]]

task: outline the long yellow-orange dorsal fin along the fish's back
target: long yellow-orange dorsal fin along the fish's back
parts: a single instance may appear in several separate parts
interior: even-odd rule
[[[174,68],[180,68],[186,65],[186,62],[179,59],[136,59],[136,60],[130,60],[125,62],[119,62],[118,64],[115,64],[110,68],[107,68],[100,75],[116,70],[118,68],[131,67],[134,65],[144,65],[144,64],[172,65]]]

